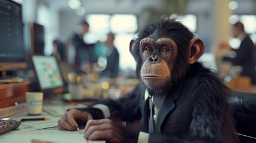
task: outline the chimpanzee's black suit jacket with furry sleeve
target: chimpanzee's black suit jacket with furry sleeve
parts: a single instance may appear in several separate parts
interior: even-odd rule
[[[110,108],[112,117],[130,122],[141,119],[142,130],[148,132],[150,111],[144,93],[140,84],[118,101],[100,103]],[[149,142],[236,142],[227,97],[226,86],[214,73],[196,63],[180,86],[166,95]]]

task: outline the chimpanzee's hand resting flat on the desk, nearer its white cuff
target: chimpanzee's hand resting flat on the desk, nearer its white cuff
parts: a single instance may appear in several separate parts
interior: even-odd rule
[[[121,120],[88,120],[84,137],[89,140],[104,139],[107,142],[137,142],[138,133],[127,128]]]

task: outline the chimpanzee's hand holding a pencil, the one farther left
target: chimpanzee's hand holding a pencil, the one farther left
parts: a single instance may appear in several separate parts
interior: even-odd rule
[[[58,120],[57,127],[61,130],[76,130],[76,128],[78,128],[78,121],[87,122],[91,119],[93,119],[93,117],[87,111],[72,109],[70,111],[66,111],[66,113],[63,114],[61,119]]]

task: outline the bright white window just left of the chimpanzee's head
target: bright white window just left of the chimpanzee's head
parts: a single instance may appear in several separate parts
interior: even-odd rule
[[[90,24],[90,32],[85,35],[88,43],[104,42],[106,34],[115,33],[115,46],[119,52],[121,70],[135,70],[135,61],[129,52],[129,42],[137,32],[137,17],[132,14],[90,14],[86,17]]]

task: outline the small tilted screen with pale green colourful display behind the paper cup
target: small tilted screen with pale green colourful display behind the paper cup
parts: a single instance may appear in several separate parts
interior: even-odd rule
[[[54,56],[32,55],[32,64],[41,91],[50,91],[64,86],[63,76]]]

